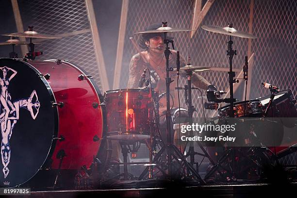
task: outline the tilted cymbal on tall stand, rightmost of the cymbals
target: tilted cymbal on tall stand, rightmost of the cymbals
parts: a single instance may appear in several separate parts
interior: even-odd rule
[[[222,33],[222,34],[227,34],[227,35],[231,35],[231,36],[237,36],[237,37],[241,37],[241,38],[257,38],[257,36],[254,36],[252,34],[249,33],[245,33],[245,32],[241,32],[236,30],[235,28],[230,28],[230,27],[217,27],[214,25],[202,25],[201,28],[203,30],[207,30],[213,33]]]

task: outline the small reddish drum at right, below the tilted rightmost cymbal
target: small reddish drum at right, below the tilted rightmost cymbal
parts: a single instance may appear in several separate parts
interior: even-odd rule
[[[246,104],[246,114],[245,111]],[[261,117],[263,115],[262,103],[258,99],[234,103],[234,117]],[[229,117],[230,105],[217,109],[219,117]]]

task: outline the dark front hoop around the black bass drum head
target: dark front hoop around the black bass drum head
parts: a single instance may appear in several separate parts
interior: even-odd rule
[[[22,64],[25,64],[26,66],[30,67],[34,72],[36,72],[36,75],[39,75],[39,74],[42,75],[42,73],[37,68],[35,68],[30,63],[24,61],[23,59],[0,58],[0,60],[19,61]],[[43,75],[42,76],[41,75],[40,75],[40,79],[44,83],[44,85],[46,86],[46,89],[48,90],[50,100],[52,102],[56,102],[55,95],[53,94],[53,91],[52,91],[52,88],[49,85],[49,82],[45,79],[45,77]],[[42,165],[38,168],[38,170],[33,174],[33,176],[29,180],[24,181],[23,183],[17,184],[16,186],[22,185],[22,184],[30,181],[40,171],[40,169],[42,169],[43,165],[47,162],[47,160],[49,158],[51,158],[51,156],[52,156],[52,154],[54,152],[54,148],[56,147],[56,141],[54,141],[54,137],[57,137],[58,136],[58,131],[59,131],[59,114],[58,114],[58,107],[57,106],[56,107],[53,107],[53,113],[54,113],[54,115],[53,115],[54,116],[53,138],[51,140],[51,145],[50,145],[50,148],[49,148],[49,152],[48,152],[47,157],[45,158],[45,160],[42,163]],[[16,186],[11,186],[11,187],[16,187]]]

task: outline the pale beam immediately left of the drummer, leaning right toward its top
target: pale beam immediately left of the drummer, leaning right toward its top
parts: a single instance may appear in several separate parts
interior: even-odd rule
[[[126,34],[126,26],[127,26],[127,16],[128,16],[128,9],[129,9],[128,7],[129,7],[129,0],[123,0],[120,25],[119,25],[119,31],[118,31],[113,89],[119,88],[119,83],[120,83],[122,62],[123,62],[123,51],[124,51],[124,44],[125,44],[125,34]]]

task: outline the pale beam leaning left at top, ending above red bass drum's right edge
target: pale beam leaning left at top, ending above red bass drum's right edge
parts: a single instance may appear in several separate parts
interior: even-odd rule
[[[100,77],[101,86],[103,89],[101,91],[109,90],[109,84],[108,84],[108,79],[107,79],[107,74],[106,74],[106,69],[105,69],[104,57],[102,54],[101,42],[100,42],[96,17],[95,17],[95,13],[94,13],[93,1],[85,0],[85,5],[86,5],[87,14],[88,14],[89,22],[90,22],[91,32],[93,35],[95,56],[97,59],[97,66],[99,69],[98,75]]]

